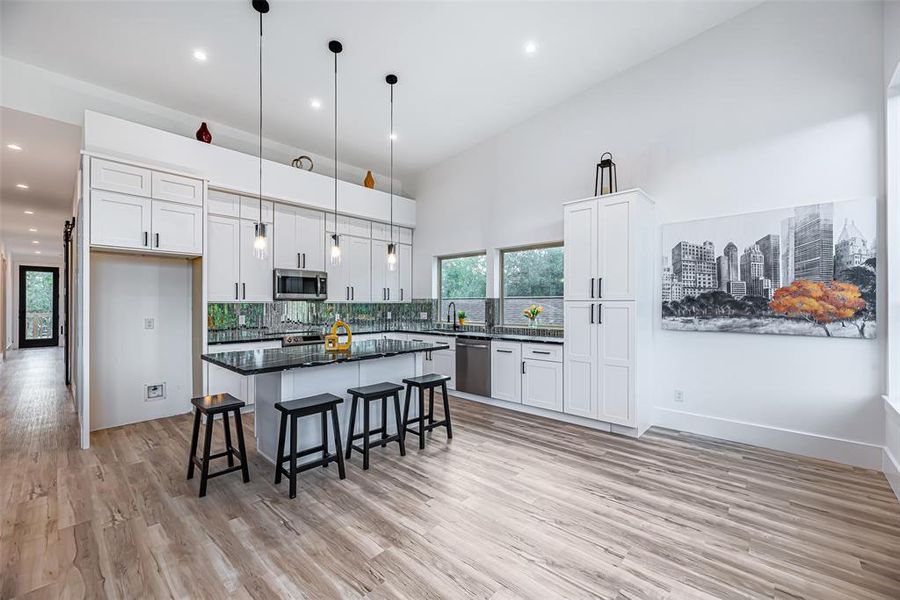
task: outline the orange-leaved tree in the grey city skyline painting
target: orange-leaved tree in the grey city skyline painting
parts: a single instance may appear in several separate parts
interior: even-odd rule
[[[859,288],[852,283],[822,283],[800,279],[775,290],[769,303],[773,312],[814,323],[831,337],[828,324],[853,318],[866,307]]]

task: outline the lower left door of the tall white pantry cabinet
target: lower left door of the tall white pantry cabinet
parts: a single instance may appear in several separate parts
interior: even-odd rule
[[[593,302],[565,303],[563,410],[597,418],[597,315]],[[593,323],[592,323],[593,322]]]

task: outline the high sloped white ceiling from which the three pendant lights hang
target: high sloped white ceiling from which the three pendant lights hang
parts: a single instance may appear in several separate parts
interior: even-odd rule
[[[757,3],[272,0],[266,137],[331,154],[330,39],[344,43],[341,160],[387,170],[384,76],[394,72],[403,176]],[[249,0],[0,4],[5,56],[256,131],[258,29]],[[538,51],[526,56],[529,40]],[[208,53],[206,63],[192,58],[195,48]],[[321,110],[310,108],[313,97]]]

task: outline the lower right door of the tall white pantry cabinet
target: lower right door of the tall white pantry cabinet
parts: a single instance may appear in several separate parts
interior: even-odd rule
[[[634,303],[598,305],[599,388],[597,418],[635,425]]]

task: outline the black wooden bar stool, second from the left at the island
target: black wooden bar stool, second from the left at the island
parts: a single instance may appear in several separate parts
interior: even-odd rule
[[[278,428],[278,458],[275,461],[275,483],[281,483],[281,476],[285,475],[291,482],[290,497],[297,497],[297,473],[301,473],[313,467],[327,467],[329,463],[337,461],[338,475],[341,479],[344,474],[344,453],[341,450],[341,429],[338,425],[337,405],[344,399],[334,394],[318,394],[307,398],[299,398],[298,400],[288,400],[287,402],[276,402],[275,408],[281,411],[281,426]],[[331,428],[334,430],[334,446],[335,454],[328,453],[328,413],[331,412]],[[297,451],[297,419],[310,415],[322,416],[322,443],[314,448],[306,448]],[[291,430],[287,432],[288,418],[291,419]],[[284,437],[290,435],[290,453],[284,454]],[[297,466],[297,459],[302,456],[308,456],[316,452],[322,453],[322,458],[306,464]],[[285,469],[282,465],[284,461],[290,461],[290,466]]]

